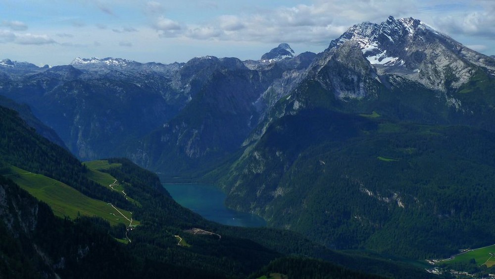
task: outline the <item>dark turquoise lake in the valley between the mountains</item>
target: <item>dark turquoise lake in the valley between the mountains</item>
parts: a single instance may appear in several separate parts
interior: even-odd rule
[[[266,222],[259,216],[238,212],[225,206],[225,194],[208,184],[162,184],[172,198],[183,207],[207,220],[233,226],[257,227]]]

